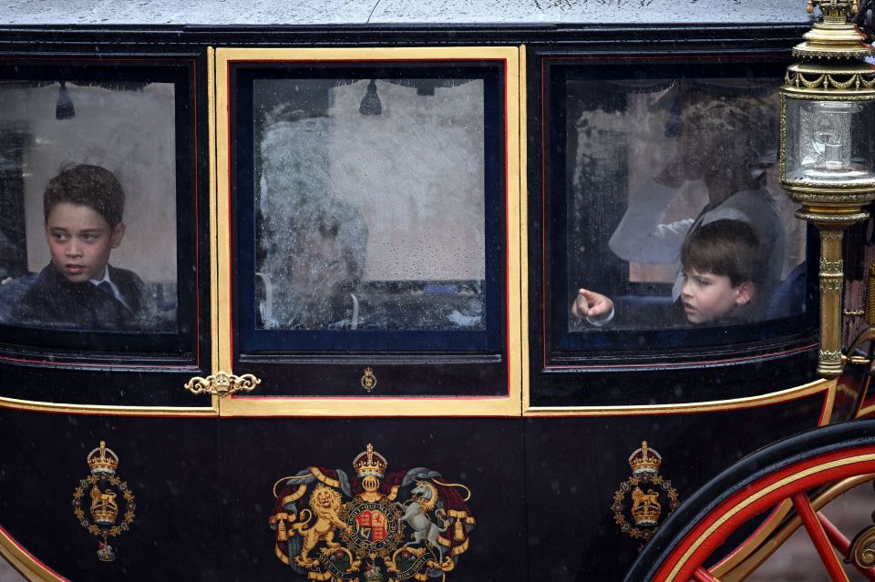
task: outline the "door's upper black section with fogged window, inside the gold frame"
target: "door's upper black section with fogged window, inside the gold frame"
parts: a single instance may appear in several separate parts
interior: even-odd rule
[[[515,61],[393,50],[220,54],[252,398],[509,397]]]

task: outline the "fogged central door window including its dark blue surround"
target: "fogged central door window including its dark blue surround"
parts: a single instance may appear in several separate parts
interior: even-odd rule
[[[500,74],[238,69],[242,349],[498,348]]]

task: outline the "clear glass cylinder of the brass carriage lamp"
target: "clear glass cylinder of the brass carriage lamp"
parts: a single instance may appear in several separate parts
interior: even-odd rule
[[[875,103],[787,99],[788,182],[839,186],[875,182]]]

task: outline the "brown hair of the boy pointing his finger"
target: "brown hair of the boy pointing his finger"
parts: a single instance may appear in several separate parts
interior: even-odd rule
[[[745,281],[759,283],[766,259],[757,231],[743,220],[715,220],[687,235],[681,247],[681,265],[728,277],[733,287]]]

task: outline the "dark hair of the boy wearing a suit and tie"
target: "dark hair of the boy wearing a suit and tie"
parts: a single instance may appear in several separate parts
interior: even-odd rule
[[[61,168],[48,181],[43,193],[43,214],[48,215],[61,202],[81,204],[94,209],[115,229],[125,213],[125,191],[118,179],[106,168],[79,164]]]

